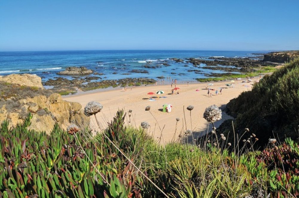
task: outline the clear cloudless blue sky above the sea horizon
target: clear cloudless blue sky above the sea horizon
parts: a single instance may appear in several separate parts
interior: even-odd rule
[[[295,50],[298,0],[0,0],[0,51]]]

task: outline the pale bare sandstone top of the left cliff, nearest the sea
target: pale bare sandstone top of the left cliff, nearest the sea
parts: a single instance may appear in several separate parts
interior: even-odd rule
[[[42,86],[42,79],[39,76],[32,74],[11,74],[8,76],[0,76],[0,81],[8,82],[20,86],[38,87],[44,89]]]

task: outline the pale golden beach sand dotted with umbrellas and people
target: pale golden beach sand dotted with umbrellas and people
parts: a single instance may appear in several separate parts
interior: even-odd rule
[[[255,80],[258,79],[259,78]],[[101,122],[102,129],[106,128],[107,122],[112,120],[118,109],[124,109],[127,113],[131,109],[132,116],[129,117],[127,114],[125,122],[128,125],[139,127],[141,122],[147,121],[150,124],[148,132],[150,135],[153,135],[155,139],[159,139],[161,136],[161,128],[161,143],[165,144],[173,139],[176,127],[175,139],[179,137],[180,133],[184,134],[186,131],[184,117],[186,118],[187,129],[191,130],[190,111],[186,109],[188,105],[194,106],[194,109],[191,111],[192,138],[201,136],[207,131],[210,131],[212,126],[208,126],[208,122],[202,117],[205,109],[210,105],[217,105],[223,108],[231,99],[236,98],[243,91],[251,90],[253,82],[242,83],[242,80],[236,81],[231,87],[225,85],[228,83],[231,84],[232,82],[230,81],[212,82],[213,86],[208,86],[208,88],[218,90],[218,92],[220,88],[222,88],[222,94],[216,95],[214,90],[212,91],[212,97],[209,97],[207,94],[208,90],[206,90],[206,86],[208,83],[189,83],[189,85],[184,83],[176,85],[176,87],[180,89],[174,92],[177,93],[179,91],[179,94],[174,95],[171,95],[171,90],[175,85],[173,84],[171,88],[169,84],[127,87],[126,91],[122,90],[122,88],[98,90],[92,93],[64,96],[64,99],[70,102],[79,102],[83,108],[90,101],[100,102],[104,108],[97,114],[97,118]],[[196,91],[196,89],[199,91]],[[161,95],[147,95],[148,92],[156,93],[159,90],[163,90],[165,93]],[[156,101],[149,101],[149,97],[151,96],[166,96],[167,98],[156,98]],[[164,104],[172,105],[170,113],[162,112]],[[151,106],[150,112],[145,111],[145,107],[148,105]],[[180,118],[180,121],[177,122],[176,118]],[[230,118],[230,116],[223,112],[222,119],[215,122],[215,126],[218,127],[224,120]],[[131,123],[128,123],[129,119],[131,119]],[[95,127],[95,123],[94,117],[91,116],[91,127],[94,128],[94,131],[97,131],[98,128]]]

